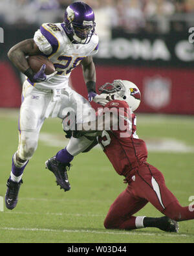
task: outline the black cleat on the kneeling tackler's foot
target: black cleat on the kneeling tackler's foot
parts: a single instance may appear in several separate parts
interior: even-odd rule
[[[159,218],[157,227],[162,231],[175,233],[178,233],[179,229],[178,222],[172,220],[171,218],[168,218],[167,216]]]

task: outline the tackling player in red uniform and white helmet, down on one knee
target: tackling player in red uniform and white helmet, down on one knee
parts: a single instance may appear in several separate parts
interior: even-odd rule
[[[146,143],[136,134],[136,116],[133,113],[140,104],[138,88],[129,81],[114,80],[113,84],[105,84],[100,90],[103,93],[101,98],[103,111],[96,116],[96,121],[91,124],[91,130],[82,129],[73,132],[74,138],[70,140],[80,151],[78,138],[87,137],[101,127],[98,143],[116,172],[124,176],[127,183],[127,188],[109,209],[104,221],[105,228],[158,227],[164,231],[177,232],[177,221],[194,219],[194,212],[178,203],[177,198],[167,189],[162,173],[147,163]],[[111,115],[109,110],[112,110]],[[113,129],[119,122],[122,122],[121,128]],[[82,152],[87,152],[91,147],[92,145],[85,149],[84,146]],[[71,145],[67,146],[67,150],[73,156],[78,154]],[[161,218],[134,216],[148,202],[165,216]]]

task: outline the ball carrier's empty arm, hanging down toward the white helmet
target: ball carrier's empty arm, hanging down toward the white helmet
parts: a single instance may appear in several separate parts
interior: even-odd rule
[[[92,56],[84,58],[81,62],[83,78],[89,93],[89,101],[96,95],[96,68]]]

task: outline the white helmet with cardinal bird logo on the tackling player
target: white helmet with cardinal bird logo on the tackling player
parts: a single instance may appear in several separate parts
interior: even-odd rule
[[[95,102],[105,105],[110,100],[125,100],[132,111],[135,111],[141,102],[138,87],[127,80],[114,80],[112,84],[106,83],[99,88],[102,94],[95,97]],[[98,99],[99,98],[99,99]]]

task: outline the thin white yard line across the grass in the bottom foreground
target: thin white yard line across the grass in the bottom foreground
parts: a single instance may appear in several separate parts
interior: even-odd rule
[[[129,232],[114,232],[114,231],[95,231],[87,229],[42,229],[42,228],[28,228],[28,227],[0,227],[0,230],[6,231],[36,231],[36,232],[55,232],[55,233],[92,233],[103,235],[142,235],[142,236],[155,236],[155,237],[194,237],[194,235],[186,234],[172,234],[172,233],[147,233],[144,231],[129,231]]]

